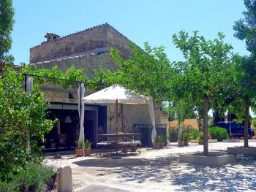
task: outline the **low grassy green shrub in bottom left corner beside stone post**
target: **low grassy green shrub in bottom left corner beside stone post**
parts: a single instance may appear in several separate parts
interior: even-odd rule
[[[12,180],[0,182],[0,191],[45,191],[51,177],[55,174],[52,167],[42,164],[28,164],[18,174],[12,175]]]

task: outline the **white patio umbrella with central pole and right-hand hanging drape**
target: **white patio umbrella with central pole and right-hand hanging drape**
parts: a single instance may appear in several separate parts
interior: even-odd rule
[[[152,142],[156,139],[157,132],[154,118],[154,104],[151,96],[143,96],[135,91],[124,88],[122,85],[116,84],[83,97],[82,101],[86,104],[116,104],[116,112],[118,111],[118,104],[148,104],[148,111],[153,126],[151,134]],[[116,115],[116,132],[117,121],[118,117]]]

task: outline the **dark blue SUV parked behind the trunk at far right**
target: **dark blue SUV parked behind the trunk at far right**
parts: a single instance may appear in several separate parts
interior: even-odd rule
[[[233,122],[233,121],[218,122],[218,123],[215,123],[214,126],[226,128],[227,134],[230,134],[230,128],[231,128],[231,134],[233,135],[233,137],[244,137],[244,127],[239,125],[236,122]],[[249,137],[255,136],[255,130],[253,130],[252,128],[248,128],[248,134],[249,134]]]

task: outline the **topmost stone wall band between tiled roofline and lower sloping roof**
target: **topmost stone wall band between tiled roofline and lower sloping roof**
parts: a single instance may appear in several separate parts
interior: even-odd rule
[[[108,50],[111,47],[116,47],[124,58],[127,58],[130,52],[128,39],[108,23],[105,23],[31,47],[29,60],[30,64],[34,64],[83,53],[99,47],[106,47]]]

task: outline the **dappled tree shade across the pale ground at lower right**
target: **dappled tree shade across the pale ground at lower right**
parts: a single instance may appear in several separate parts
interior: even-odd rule
[[[167,182],[178,185],[180,191],[256,190],[256,158],[243,155],[238,155],[233,164],[218,167],[184,164],[178,155],[155,159],[86,159],[75,164],[102,168],[98,176],[116,174],[121,180],[137,183]]]

